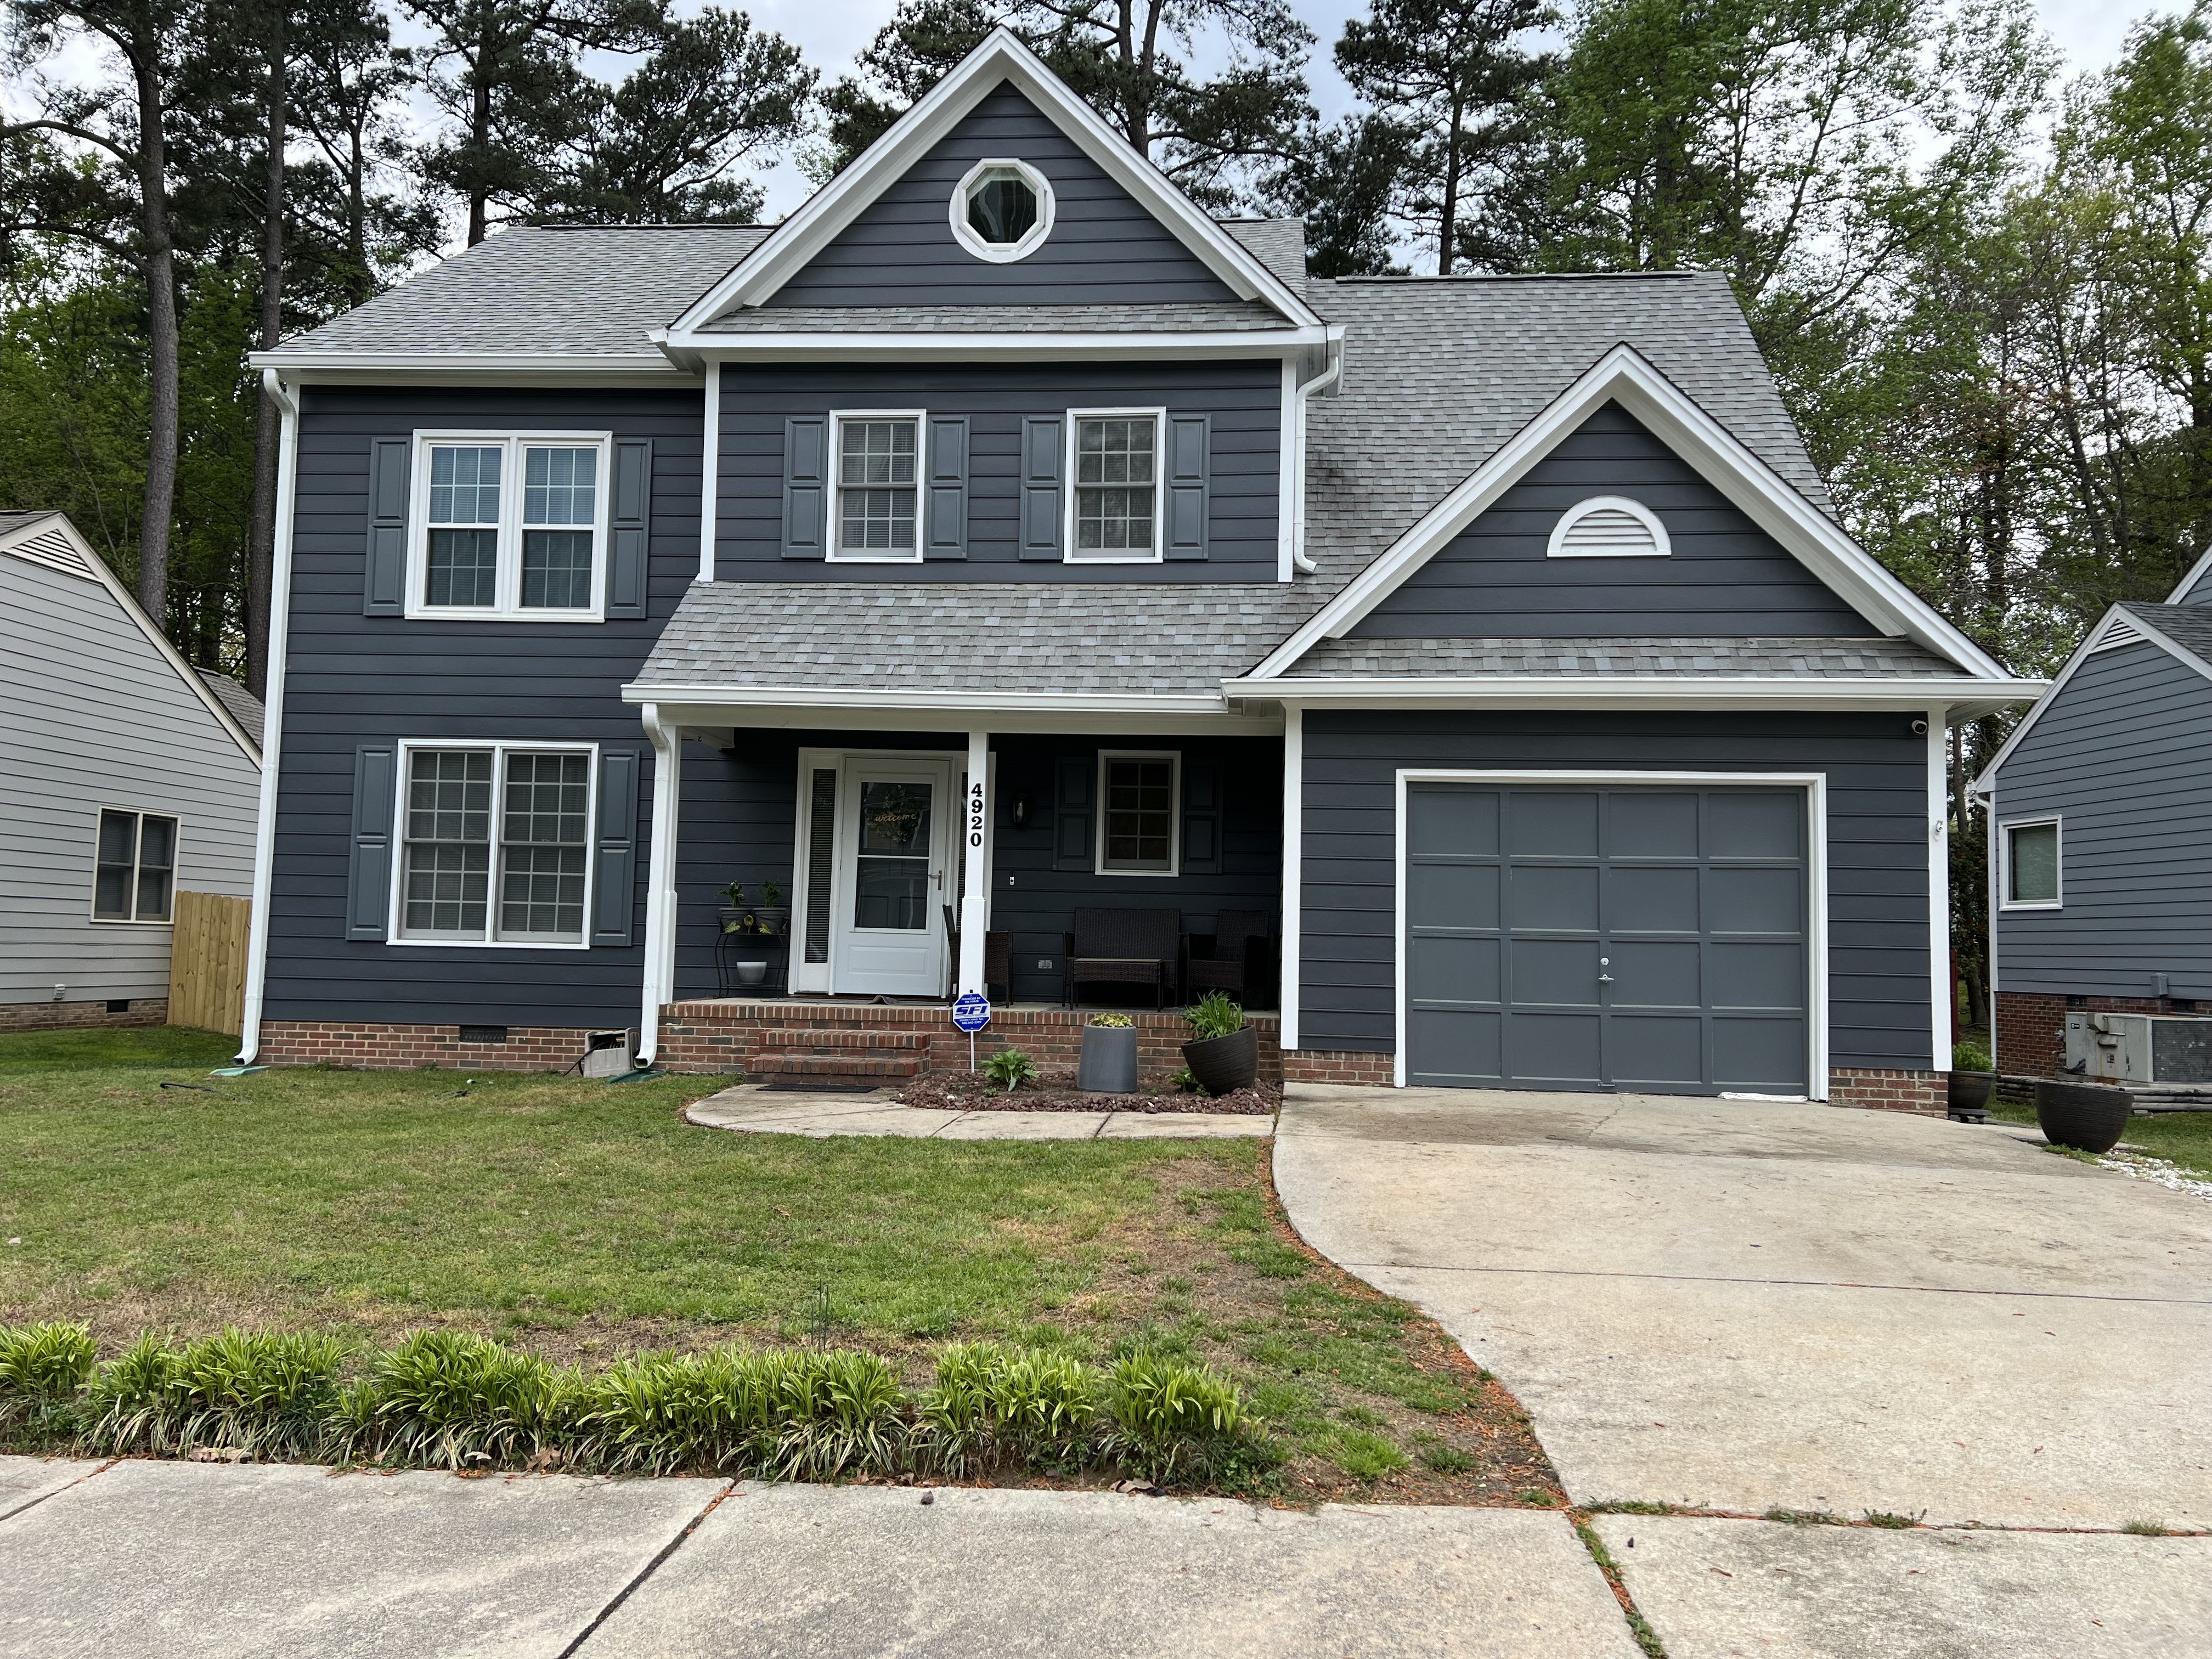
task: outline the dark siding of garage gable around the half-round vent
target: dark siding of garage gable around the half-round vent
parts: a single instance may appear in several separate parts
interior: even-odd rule
[[[1553,560],[1559,513],[1628,495],[1670,557]],[[1860,617],[1635,416],[1608,403],[1354,630],[1442,637],[1865,637]]]

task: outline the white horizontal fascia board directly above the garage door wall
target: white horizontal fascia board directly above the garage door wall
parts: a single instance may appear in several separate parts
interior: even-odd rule
[[[1265,699],[1294,708],[1756,708],[1756,710],[1927,710],[1936,706],[2026,701],[2039,679],[1882,677],[1812,679],[1745,675],[1741,679],[1659,679],[1655,675],[1482,675],[1438,679],[1223,679],[1232,699]]]

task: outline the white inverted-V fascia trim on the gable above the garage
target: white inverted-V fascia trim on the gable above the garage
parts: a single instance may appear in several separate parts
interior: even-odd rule
[[[1407,577],[1440,553],[1484,509],[1606,400],[1617,400],[1652,429],[1677,456],[1728,495],[1767,535],[1794,553],[1838,597],[1891,635],[1902,635],[1975,679],[2011,679],[2004,668],[1953,628],[1920,595],[1882,568],[1880,560],[1754,456],[1728,427],[1697,407],[1639,352],[1615,345],[1551,407],[1513,434],[1469,473],[1413,529],[1345,584],[1329,604],[1285,639],[1254,677],[1281,675],[1323,639],[1340,639]]]

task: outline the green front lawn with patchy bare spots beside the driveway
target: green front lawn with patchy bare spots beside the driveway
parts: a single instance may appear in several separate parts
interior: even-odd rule
[[[88,1318],[111,1352],[436,1323],[584,1363],[814,1336],[916,1378],[956,1336],[1150,1340],[1245,1385],[1287,1495],[1553,1489],[1502,1389],[1296,1245],[1261,1141],[730,1135],[677,1117],[706,1077],[210,1077],[230,1048],[0,1035],[0,1323]]]

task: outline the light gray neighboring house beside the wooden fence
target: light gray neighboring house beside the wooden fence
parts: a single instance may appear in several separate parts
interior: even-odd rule
[[[252,891],[259,703],[62,513],[0,513],[0,1029],[159,1024],[173,894]]]

